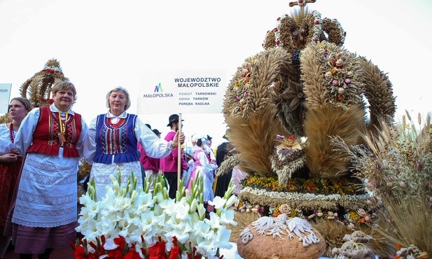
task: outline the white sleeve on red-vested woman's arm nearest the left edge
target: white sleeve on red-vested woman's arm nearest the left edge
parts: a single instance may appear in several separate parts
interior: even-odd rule
[[[14,144],[20,151],[21,155],[25,155],[27,149],[33,142],[33,133],[36,130],[40,116],[39,108],[35,108],[30,111],[24,120],[22,120],[20,129],[15,136]]]

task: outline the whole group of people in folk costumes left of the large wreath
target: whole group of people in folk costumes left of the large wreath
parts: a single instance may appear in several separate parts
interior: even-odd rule
[[[125,87],[115,87],[106,94],[108,111],[87,125],[71,108],[76,102],[73,83],[57,82],[51,91],[49,106],[33,108],[28,99],[11,99],[11,123],[0,125],[0,259],[10,244],[20,259],[35,254],[44,259],[75,241],[81,159],[92,165],[88,179],[95,182],[97,200],[112,185],[110,175],[118,172],[123,184],[131,174],[138,184],[150,178],[151,190],[162,172],[172,199],[179,177],[186,188],[201,177],[208,212],[207,203],[228,188],[230,176],[218,181],[223,184],[214,191],[215,170],[223,156],[216,156],[211,137],[193,134],[185,145],[179,115],[169,116],[169,132],[162,138],[159,130],[127,112],[130,94]]]

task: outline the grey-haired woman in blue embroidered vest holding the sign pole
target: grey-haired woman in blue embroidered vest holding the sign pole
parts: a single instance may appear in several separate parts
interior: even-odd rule
[[[95,179],[97,200],[102,200],[106,188],[112,186],[110,175],[120,179],[123,185],[134,173],[137,186],[142,185],[141,165],[137,144],[152,158],[165,158],[172,149],[182,144],[184,135],[176,133],[172,141],[159,139],[137,115],[127,113],[130,107],[129,92],[125,87],[115,87],[106,94],[109,111],[92,120],[88,141],[85,144],[85,159],[92,162],[90,178]]]

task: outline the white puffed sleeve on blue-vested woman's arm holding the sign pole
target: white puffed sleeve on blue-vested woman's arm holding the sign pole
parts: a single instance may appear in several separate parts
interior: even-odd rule
[[[140,118],[135,123],[135,136],[146,154],[151,158],[165,158],[172,151],[171,141],[160,139]]]

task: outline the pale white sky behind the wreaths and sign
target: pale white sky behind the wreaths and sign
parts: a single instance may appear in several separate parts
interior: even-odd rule
[[[388,74],[398,116],[431,111],[432,1],[317,0],[309,8],[339,20],[345,48]],[[74,109],[90,123],[106,111],[109,89],[123,85],[134,94],[146,71],[224,69],[229,81],[246,57],[263,50],[265,32],[285,13],[291,8],[284,0],[0,0],[0,83],[12,83],[11,96],[18,96],[20,85],[55,58],[77,87]],[[130,112],[136,106],[132,99]],[[143,119],[164,135],[168,116]],[[186,136],[222,141],[221,114],[183,118]]]

